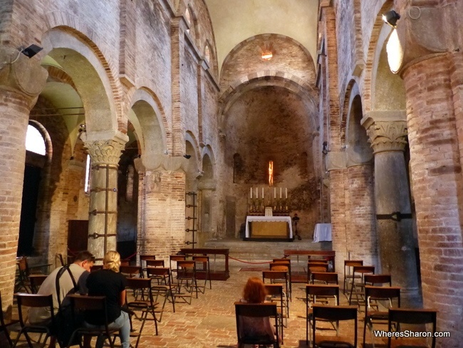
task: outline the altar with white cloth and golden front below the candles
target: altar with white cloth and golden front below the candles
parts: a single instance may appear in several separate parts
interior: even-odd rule
[[[247,216],[244,240],[293,240],[289,216]]]

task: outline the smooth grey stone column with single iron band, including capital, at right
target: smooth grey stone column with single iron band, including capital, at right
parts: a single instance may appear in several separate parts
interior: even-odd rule
[[[404,111],[372,112],[362,120],[375,154],[375,207],[380,272],[402,287],[407,305],[418,307],[415,242],[410,188],[403,152],[407,145]]]

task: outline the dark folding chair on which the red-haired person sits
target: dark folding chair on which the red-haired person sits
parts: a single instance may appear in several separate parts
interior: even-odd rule
[[[279,327],[278,327],[278,312],[276,309],[275,302],[269,303],[243,303],[235,302],[235,316],[236,316],[236,334],[238,336],[238,347],[241,347],[241,344],[274,344],[274,347],[279,346]],[[275,321],[275,334],[274,337],[268,337],[263,339],[263,337],[246,337],[242,332],[245,332],[246,327],[241,327],[240,317],[251,317],[251,318],[274,318]],[[244,326],[244,325],[243,325]]]

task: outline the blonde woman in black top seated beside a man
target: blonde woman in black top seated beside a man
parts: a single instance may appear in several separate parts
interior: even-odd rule
[[[103,258],[103,269],[91,272],[87,278],[88,295],[105,296],[108,327],[120,329],[120,342],[123,348],[130,347],[130,321],[127,312],[121,310],[125,305],[125,286],[127,280],[119,272],[120,255],[108,251]],[[87,327],[101,327],[105,324],[105,314],[101,311],[85,312]],[[98,337],[96,348],[103,347],[104,337]]]

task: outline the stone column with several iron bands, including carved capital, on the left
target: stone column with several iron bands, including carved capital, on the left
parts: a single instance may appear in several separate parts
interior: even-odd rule
[[[127,135],[110,140],[83,141],[91,160],[90,207],[88,211],[88,250],[97,260],[116,250],[118,222],[118,165]]]

